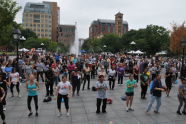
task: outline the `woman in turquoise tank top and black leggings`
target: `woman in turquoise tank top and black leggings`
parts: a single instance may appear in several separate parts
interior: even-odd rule
[[[28,117],[30,117],[32,113],[31,109],[31,101],[32,98],[34,99],[35,103],[35,109],[36,109],[36,116],[38,116],[38,90],[39,90],[39,82],[36,81],[35,76],[33,74],[30,75],[29,81],[26,82],[26,88],[28,91],[28,97],[27,97],[27,106],[30,113],[28,114]]]

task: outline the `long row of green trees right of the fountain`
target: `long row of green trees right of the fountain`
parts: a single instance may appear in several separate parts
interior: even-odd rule
[[[132,41],[136,42],[131,46]],[[103,46],[106,45],[106,48]],[[105,35],[101,39],[89,39],[83,44],[83,49],[91,52],[91,48],[96,52],[98,48],[102,51],[117,53],[121,50],[142,50],[147,54],[155,54],[162,50],[168,50],[169,32],[161,26],[148,25],[145,29],[131,30],[121,38],[114,34]],[[100,52],[100,51],[98,51]]]

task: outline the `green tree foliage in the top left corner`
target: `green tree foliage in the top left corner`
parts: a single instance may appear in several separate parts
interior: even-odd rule
[[[14,19],[20,9],[13,0],[0,0],[0,45],[10,45]]]

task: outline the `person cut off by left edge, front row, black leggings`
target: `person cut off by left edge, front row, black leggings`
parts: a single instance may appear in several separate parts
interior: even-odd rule
[[[1,115],[1,119],[3,120],[3,124],[6,124],[5,122],[5,114],[3,112],[3,99],[5,97],[5,91],[3,90],[2,87],[0,87],[0,115]]]

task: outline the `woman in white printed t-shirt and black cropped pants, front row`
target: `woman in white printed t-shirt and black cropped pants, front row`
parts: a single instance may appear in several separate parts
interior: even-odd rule
[[[57,107],[59,110],[59,115],[61,116],[61,100],[64,99],[65,108],[67,112],[67,116],[69,116],[69,96],[72,93],[72,86],[69,81],[67,81],[66,76],[62,76],[62,81],[57,85]]]

